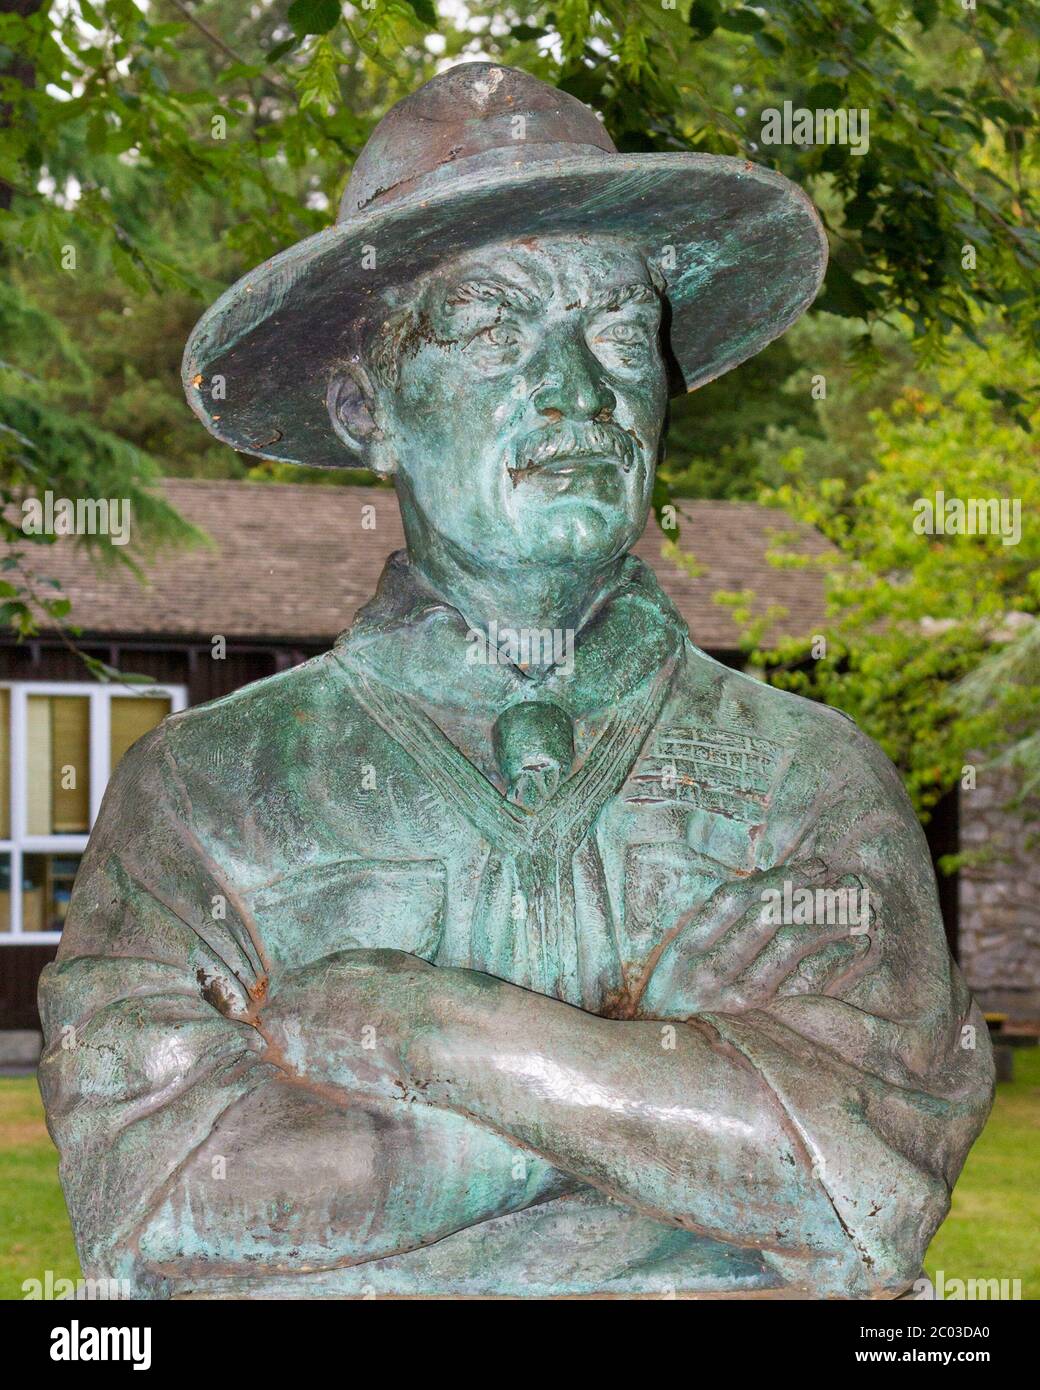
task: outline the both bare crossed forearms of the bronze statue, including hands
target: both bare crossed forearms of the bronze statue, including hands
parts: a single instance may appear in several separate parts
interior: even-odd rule
[[[833,933],[777,955],[762,881],[722,890],[655,960],[688,1022],[605,1019],[391,951],[284,977],[254,1020],[268,1079],[192,1155],[142,1254],[175,1275],[202,1237],[211,1270],[355,1264],[591,1186],[688,1230],[855,1265],[783,1105],[695,1012],[697,990],[747,1008],[812,960],[838,967]]]

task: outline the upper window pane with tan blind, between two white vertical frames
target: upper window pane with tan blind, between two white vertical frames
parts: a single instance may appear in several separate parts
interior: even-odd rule
[[[75,835],[90,828],[90,701],[31,695],[28,710],[28,830]]]

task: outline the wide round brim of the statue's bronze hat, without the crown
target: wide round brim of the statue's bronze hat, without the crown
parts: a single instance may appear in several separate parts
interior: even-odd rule
[[[663,260],[676,393],[784,332],[827,263],[809,199],[745,160],[603,153],[463,174],[341,221],[242,277],[188,341],[188,400],[243,453],[356,466],[325,395],[335,366],[384,313],[384,292],[488,242],[560,234],[620,236]]]

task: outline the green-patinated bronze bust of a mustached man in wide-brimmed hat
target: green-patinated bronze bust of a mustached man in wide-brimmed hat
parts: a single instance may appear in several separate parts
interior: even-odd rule
[[[777,174],[619,154],[466,64],[203,317],[206,425],[392,475],[407,550],[331,652],[115,771],[40,988],[88,1275],[918,1277],[993,1084],[923,834],[847,717],[710,660],[628,555],[669,396],[783,332],[824,257]]]

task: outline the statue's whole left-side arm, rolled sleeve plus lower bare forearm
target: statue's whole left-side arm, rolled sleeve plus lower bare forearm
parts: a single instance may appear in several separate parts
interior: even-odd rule
[[[85,1273],[163,1297],[335,1269],[553,1191],[476,1122],[266,1061],[281,976],[197,820],[154,731],[110,783],[40,981],[40,1090]]]

